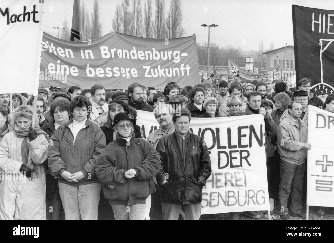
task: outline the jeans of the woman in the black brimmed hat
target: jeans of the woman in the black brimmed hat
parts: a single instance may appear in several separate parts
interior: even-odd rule
[[[145,219],[145,204],[116,205],[112,204],[116,220],[144,220]]]

